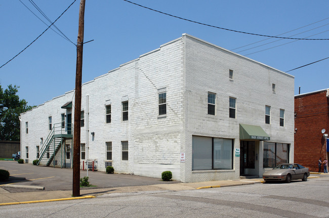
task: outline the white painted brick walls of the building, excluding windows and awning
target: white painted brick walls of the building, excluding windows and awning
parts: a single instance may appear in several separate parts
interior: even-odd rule
[[[228,78],[234,71],[233,80]],[[272,83],[276,93],[272,93]],[[158,116],[158,90],[166,88],[167,116]],[[216,93],[216,115],[208,115],[208,92]],[[193,36],[162,45],[159,49],[120,65],[119,68],[83,84],[81,110],[86,114],[89,95],[89,133],[81,127],[81,143],[89,142],[89,158],[105,171],[106,145],[112,142],[115,172],[160,178],[171,170],[182,182],[236,179],[239,158],[232,170],[192,171],[192,136],[234,139],[239,148],[239,123],[260,125],[271,141],[294,145],[294,78],[246,59]],[[228,118],[229,97],[237,99],[237,117]],[[121,121],[121,102],[129,100],[129,120]],[[54,98],[21,114],[29,133],[21,133],[22,157],[29,147],[47,138],[48,117],[61,121],[61,106],[73,100],[73,92]],[[105,105],[111,104],[111,123],[105,123]],[[271,124],[265,124],[265,105],[271,106]],[[279,127],[279,109],[285,110],[285,126]],[[74,113],[72,113],[73,122]],[[95,136],[91,136],[91,132]],[[129,160],[121,160],[121,141],[129,142]],[[185,152],[185,162],[180,162]],[[293,153],[291,153],[291,160]],[[25,158],[24,158],[25,159]]]

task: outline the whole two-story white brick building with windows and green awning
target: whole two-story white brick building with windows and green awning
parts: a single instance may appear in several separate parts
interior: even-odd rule
[[[71,167],[73,94],[21,114],[25,162],[51,133],[62,138],[40,159]],[[198,182],[294,161],[294,76],[188,34],[84,83],[82,96],[81,161],[101,171]]]

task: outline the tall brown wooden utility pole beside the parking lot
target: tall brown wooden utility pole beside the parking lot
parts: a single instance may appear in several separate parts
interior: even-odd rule
[[[84,47],[85,3],[80,0],[79,29],[76,43],[76,73],[73,129],[73,181],[72,196],[80,196],[80,119],[81,119],[81,80]]]

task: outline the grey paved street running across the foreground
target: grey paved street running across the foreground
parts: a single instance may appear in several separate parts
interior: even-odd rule
[[[2,217],[328,217],[329,177],[1,206]]]

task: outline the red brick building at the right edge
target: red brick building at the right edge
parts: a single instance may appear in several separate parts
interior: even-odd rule
[[[322,129],[325,129],[324,133],[321,132]],[[318,159],[322,157],[323,160],[328,157],[326,151],[328,130],[329,89],[296,95],[294,162],[317,172]]]

